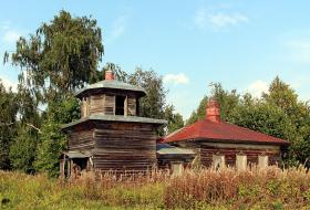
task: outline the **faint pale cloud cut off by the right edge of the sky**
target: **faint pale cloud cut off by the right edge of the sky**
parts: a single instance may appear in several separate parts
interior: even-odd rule
[[[299,63],[310,63],[310,40],[293,40],[285,43],[288,56]]]

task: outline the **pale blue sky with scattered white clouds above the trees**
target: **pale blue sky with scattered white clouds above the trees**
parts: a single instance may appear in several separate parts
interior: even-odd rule
[[[310,1],[2,1],[0,78],[17,86],[20,69],[2,64],[17,39],[60,10],[92,17],[103,31],[106,62],[123,71],[153,69],[163,76],[167,103],[185,118],[210,93],[210,83],[259,97],[278,75],[310,99]]]

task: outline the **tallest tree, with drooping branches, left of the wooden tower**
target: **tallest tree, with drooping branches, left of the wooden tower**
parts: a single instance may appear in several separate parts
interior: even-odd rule
[[[60,125],[80,118],[80,105],[72,93],[97,80],[102,55],[96,20],[73,18],[63,10],[29,39],[20,38],[14,53],[6,53],[4,62],[21,67],[19,135],[10,153],[16,169],[29,171],[34,166],[38,171],[58,174],[59,155],[65,145]],[[40,114],[42,105],[46,111]],[[37,150],[31,151],[33,148]]]

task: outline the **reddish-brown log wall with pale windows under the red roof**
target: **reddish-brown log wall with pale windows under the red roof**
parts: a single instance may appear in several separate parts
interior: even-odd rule
[[[258,156],[266,155],[269,157],[269,165],[276,165],[280,160],[280,153],[272,149],[255,149],[255,148],[219,148],[215,146],[200,146],[200,161],[204,166],[210,167],[213,164],[213,155],[224,155],[226,166],[236,166],[236,155],[246,155],[247,165],[257,165]]]

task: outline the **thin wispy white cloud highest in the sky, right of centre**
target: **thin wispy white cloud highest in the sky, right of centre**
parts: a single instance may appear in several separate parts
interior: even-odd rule
[[[227,27],[248,22],[249,19],[241,13],[208,12],[206,9],[198,9],[194,17],[194,23],[199,29],[211,28],[221,30]]]

